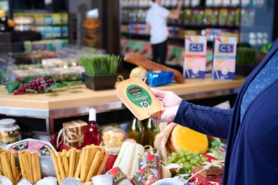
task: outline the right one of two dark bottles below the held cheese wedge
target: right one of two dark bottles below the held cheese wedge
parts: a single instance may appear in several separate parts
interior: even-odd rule
[[[158,133],[159,133],[158,122],[148,119],[147,123],[145,124],[143,146],[146,145],[154,146],[154,139],[156,138],[156,134]]]

